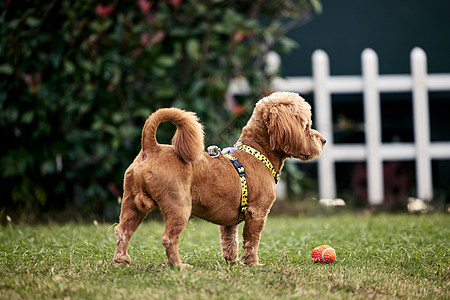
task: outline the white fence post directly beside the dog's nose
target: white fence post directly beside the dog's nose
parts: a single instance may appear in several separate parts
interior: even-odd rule
[[[333,120],[331,115],[331,94],[328,87],[330,80],[330,63],[328,55],[323,50],[316,50],[312,56],[314,114],[317,129],[327,144],[318,161],[319,169],[319,197],[336,198],[336,180],[334,170],[333,153]]]

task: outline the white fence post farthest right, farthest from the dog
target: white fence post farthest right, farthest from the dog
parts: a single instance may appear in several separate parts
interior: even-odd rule
[[[430,123],[428,110],[427,56],[421,48],[411,51],[413,79],[414,142],[416,148],[417,196],[423,200],[433,198],[433,180],[430,158]]]

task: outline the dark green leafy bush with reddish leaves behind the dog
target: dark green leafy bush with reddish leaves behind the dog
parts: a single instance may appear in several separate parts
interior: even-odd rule
[[[221,133],[236,132],[229,120],[246,120],[245,101],[267,87],[265,54],[295,46],[284,34],[311,3],[2,1],[2,214],[115,217],[108,207],[159,107],[193,110],[207,144],[232,143],[237,134]],[[224,95],[238,76],[252,91],[232,109]]]

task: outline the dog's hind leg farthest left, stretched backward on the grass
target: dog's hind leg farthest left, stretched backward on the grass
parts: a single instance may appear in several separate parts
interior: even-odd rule
[[[130,192],[124,193],[120,222],[115,229],[117,246],[113,258],[114,263],[129,264],[131,262],[127,252],[131,236],[147,216],[147,213],[156,207],[156,203],[142,192],[134,197],[130,195]]]

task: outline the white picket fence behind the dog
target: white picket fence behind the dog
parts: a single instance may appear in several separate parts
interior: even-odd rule
[[[273,55],[273,54],[271,54]],[[268,62],[270,63],[269,57]],[[272,57],[276,69],[279,59]],[[273,81],[276,91],[314,93],[315,127],[327,140],[325,150],[318,160],[319,197],[336,198],[336,162],[365,161],[367,165],[368,201],[382,204],[384,198],[383,161],[416,161],[417,197],[433,198],[431,161],[450,159],[449,142],[430,141],[429,92],[450,91],[450,73],[427,74],[427,57],[420,48],[410,55],[411,74],[380,75],[378,57],[372,49],[361,54],[361,76],[330,76],[328,55],[316,50],[312,55],[312,77],[277,78]],[[246,90],[245,82],[236,82],[231,93]],[[381,142],[380,93],[412,92],[414,143]],[[365,144],[335,144],[331,111],[332,94],[363,94]]]

